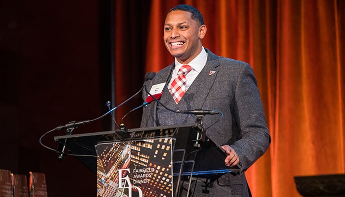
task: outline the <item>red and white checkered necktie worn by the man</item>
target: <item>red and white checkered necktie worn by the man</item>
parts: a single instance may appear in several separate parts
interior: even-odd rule
[[[192,70],[190,65],[183,65],[177,72],[177,77],[171,83],[171,94],[175,100],[175,103],[178,104],[182,99],[184,93],[186,93],[187,89],[187,79],[186,74]]]

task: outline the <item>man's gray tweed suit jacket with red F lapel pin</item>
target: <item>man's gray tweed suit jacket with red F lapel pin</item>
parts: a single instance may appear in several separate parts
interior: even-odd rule
[[[206,65],[180,103],[176,105],[171,96],[171,100],[165,98],[164,104],[172,110],[203,109],[222,112],[223,118],[214,125],[212,124],[219,119],[219,116],[206,115],[204,117],[204,127],[212,125],[207,129],[206,134],[218,144],[227,144],[234,148],[243,168],[248,169],[265,153],[271,142],[253,69],[248,63],[220,57],[205,50],[208,54]],[[147,83],[147,89],[150,90],[152,85],[170,80],[174,66],[175,64],[172,63],[159,71]],[[164,91],[169,92],[167,89]],[[144,101],[147,96],[148,93],[143,91]],[[157,119],[159,124],[157,124]],[[170,117],[165,117],[164,114],[160,117],[159,112],[157,113],[157,102],[152,102],[143,109],[141,127],[193,122],[195,122],[195,117],[173,113]],[[236,177],[229,174],[223,176],[223,181],[222,184],[225,185],[247,186],[244,175]]]

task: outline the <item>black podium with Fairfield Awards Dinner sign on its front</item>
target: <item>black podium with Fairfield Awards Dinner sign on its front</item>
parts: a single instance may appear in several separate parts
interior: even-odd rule
[[[54,137],[97,173],[99,196],[181,196],[181,180],[238,173],[197,123]],[[198,138],[198,140],[196,140]],[[189,185],[189,184],[188,184]],[[189,193],[188,188],[184,188]]]

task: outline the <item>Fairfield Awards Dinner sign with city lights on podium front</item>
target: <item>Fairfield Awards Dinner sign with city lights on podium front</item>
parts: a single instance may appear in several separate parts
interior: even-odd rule
[[[173,196],[173,138],[96,145],[97,196]]]

